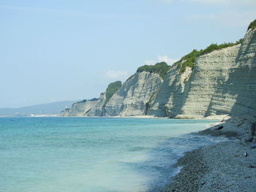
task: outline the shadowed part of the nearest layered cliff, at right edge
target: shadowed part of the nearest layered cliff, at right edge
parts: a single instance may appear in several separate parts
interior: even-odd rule
[[[256,112],[256,29],[250,29],[236,58],[237,68],[230,72],[229,93],[236,96],[233,115],[254,115]]]

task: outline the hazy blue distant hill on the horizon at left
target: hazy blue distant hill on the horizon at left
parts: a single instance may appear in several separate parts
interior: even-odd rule
[[[0,116],[59,115],[66,106],[71,107],[74,102],[75,101],[58,101],[28,107],[0,108]]]

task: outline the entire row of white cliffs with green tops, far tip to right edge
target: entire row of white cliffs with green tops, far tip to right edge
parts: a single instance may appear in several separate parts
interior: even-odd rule
[[[256,111],[256,28],[249,28],[238,43],[193,50],[172,67],[142,66],[109,99],[103,93],[95,101],[73,104],[64,115],[252,115]]]

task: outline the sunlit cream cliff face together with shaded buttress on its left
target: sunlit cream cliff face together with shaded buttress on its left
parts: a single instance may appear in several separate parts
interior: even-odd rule
[[[238,66],[236,57],[239,47],[236,45],[201,55],[193,71],[187,67],[180,74],[178,67],[170,69],[156,98],[151,102],[148,115],[201,118],[230,113],[236,98],[219,93],[219,90],[227,82],[230,70]],[[217,99],[223,101],[216,106],[214,98],[215,102]]]

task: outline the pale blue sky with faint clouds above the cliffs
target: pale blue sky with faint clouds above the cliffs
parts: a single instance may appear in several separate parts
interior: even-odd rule
[[[255,0],[0,0],[0,108],[99,97],[139,66],[236,42]]]

